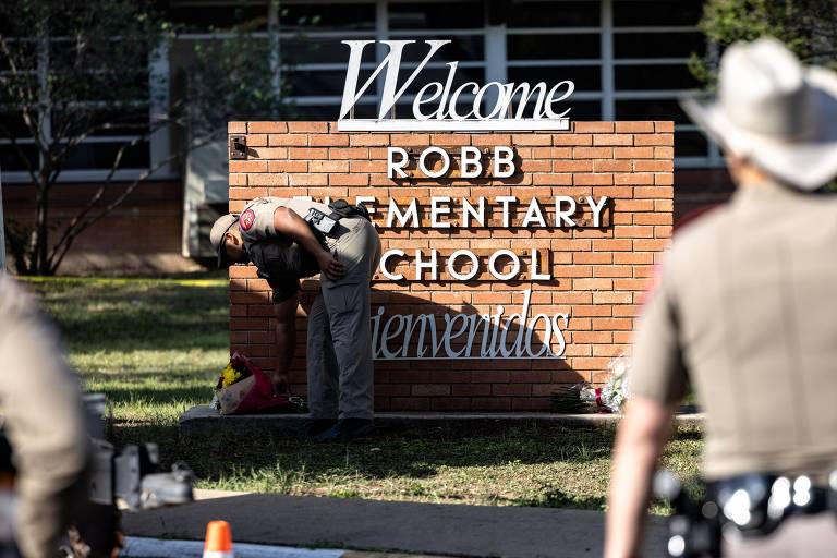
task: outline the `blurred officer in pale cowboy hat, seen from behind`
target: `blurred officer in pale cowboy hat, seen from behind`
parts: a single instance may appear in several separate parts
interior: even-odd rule
[[[719,525],[723,556],[837,556],[837,199],[816,193],[837,174],[837,74],[764,38],[726,51],[718,90],[684,108],[724,147],[738,191],[679,231],[643,308],[608,558],[640,551],[688,380],[706,412],[696,511]]]

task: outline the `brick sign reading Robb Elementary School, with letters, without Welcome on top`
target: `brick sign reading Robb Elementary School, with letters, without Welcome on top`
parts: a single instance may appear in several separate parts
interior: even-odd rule
[[[338,132],[231,122],[230,210],[258,196],[344,198],[372,211],[379,411],[545,410],[560,384],[597,383],[629,350],[672,214],[671,122],[574,122],[568,132]],[[231,348],[272,367],[267,283],[230,269]],[[291,375],[305,384],[303,282]]]

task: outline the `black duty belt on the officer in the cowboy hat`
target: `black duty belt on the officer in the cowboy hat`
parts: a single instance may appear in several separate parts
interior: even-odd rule
[[[663,471],[654,492],[671,502],[669,556],[721,556],[721,534],[737,531],[744,537],[764,536],[786,519],[837,512],[837,471],[827,486],[816,486],[806,475],[751,473],[705,484],[705,496],[690,497],[680,481]]]

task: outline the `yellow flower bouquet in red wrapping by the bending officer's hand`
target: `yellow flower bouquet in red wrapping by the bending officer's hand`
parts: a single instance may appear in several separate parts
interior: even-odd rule
[[[233,353],[215,386],[213,407],[221,414],[307,412],[305,401],[274,393],[270,378],[241,353]]]

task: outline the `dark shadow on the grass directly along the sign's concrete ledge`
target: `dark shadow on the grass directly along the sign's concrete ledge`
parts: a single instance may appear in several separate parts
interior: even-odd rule
[[[175,427],[123,424],[121,440],[158,436],[167,461],[185,460],[202,478],[270,469],[322,478],[351,472],[364,478],[428,478],[451,468],[481,468],[608,460],[612,433],[592,428],[507,428],[494,432],[415,428],[351,445],[314,444],[275,433],[219,434],[180,440]],[[556,497],[557,498],[557,497]]]

